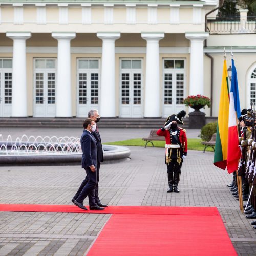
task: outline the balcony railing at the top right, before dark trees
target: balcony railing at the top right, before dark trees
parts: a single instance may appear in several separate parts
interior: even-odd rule
[[[256,17],[218,18],[207,20],[207,30],[210,34],[254,34],[256,33]]]

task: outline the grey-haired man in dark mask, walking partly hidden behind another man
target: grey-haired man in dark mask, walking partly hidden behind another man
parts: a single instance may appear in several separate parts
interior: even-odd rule
[[[98,110],[90,110],[88,112],[88,118],[91,118],[95,121],[95,123],[98,123],[100,120],[100,116],[98,113]],[[91,191],[91,196],[89,197],[89,205],[98,205],[100,207],[108,207],[108,205],[106,204],[102,204],[100,202],[99,199],[99,169],[100,169],[100,163],[104,161],[103,158],[103,150],[102,150],[102,144],[101,144],[101,138],[100,138],[100,134],[99,134],[99,130],[98,127],[96,125],[96,130],[94,132],[92,132],[92,135],[94,136],[94,138],[97,141],[97,170],[96,170],[96,174],[97,174],[97,183],[95,186],[94,191]],[[74,198],[72,199],[72,202],[74,203],[74,201],[76,200],[76,198],[79,196],[79,194],[81,193],[83,187],[87,184],[88,182],[88,177],[86,177],[82,184],[80,185],[79,189],[77,190],[77,193],[75,194]]]

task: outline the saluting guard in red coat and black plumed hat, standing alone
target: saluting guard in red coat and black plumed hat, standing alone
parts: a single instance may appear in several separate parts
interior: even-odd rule
[[[168,185],[167,192],[179,193],[178,184],[180,179],[180,170],[183,159],[187,155],[187,137],[186,130],[177,126],[184,124],[182,117],[186,115],[181,111],[177,115],[171,115],[167,118],[164,127],[157,131],[157,135],[165,137],[165,163],[167,165]]]

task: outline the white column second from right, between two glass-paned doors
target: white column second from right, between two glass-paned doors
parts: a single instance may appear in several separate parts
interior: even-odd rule
[[[146,40],[144,117],[160,117],[159,41],[164,33],[141,33]]]

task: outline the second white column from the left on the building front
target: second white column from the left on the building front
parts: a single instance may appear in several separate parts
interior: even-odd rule
[[[52,33],[58,40],[56,117],[72,116],[70,41],[76,33]]]

